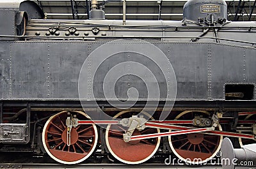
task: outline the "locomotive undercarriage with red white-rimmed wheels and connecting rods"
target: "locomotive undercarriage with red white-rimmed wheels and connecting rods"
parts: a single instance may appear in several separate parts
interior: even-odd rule
[[[138,164],[170,154],[188,163],[197,158],[205,163],[216,156],[224,136],[232,138],[235,147],[255,143],[256,108],[250,101],[244,101],[243,108],[234,101],[178,102],[164,121],[158,120],[161,104],[152,117],[147,114],[150,108],[143,116],[136,116],[143,110],[143,103],[126,110],[100,104],[113,120],[92,121],[86,112],[99,110],[83,110],[78,103],[2,103],[0,151],[49,154],[65,164],[92,158]]]

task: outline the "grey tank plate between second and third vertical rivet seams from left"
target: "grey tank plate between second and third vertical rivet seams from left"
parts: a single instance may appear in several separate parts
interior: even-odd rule
[[[88,43],[64,41],[47,44],[50,45],[50,97],[78,99],[78,78],[88,56]]]

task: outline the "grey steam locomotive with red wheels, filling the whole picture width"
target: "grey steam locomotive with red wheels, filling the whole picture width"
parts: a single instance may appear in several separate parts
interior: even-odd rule
[[[88,20],[33,1],[0,16],[1,154],[194,164],[225,136],[255,143],[256,22],[228,21],[223,0],[189,0],[182,21],[106,20],[95,1]]]

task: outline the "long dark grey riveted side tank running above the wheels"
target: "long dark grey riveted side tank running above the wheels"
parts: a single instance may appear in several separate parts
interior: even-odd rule
[[[9,43],[1,43],[3,44],[0,48],[1,59],[5,58],[1,60],[2,74],[3,78],[6,77],[5,81],[1,80],[2,98],[8,99],[10,94],[12,99],[79,99],[78,78],[83,63],[88,54],[104,43],[106,42],[19,41],[12,43],[11,52]],[[114,42],[111,43],[111,47],[122,47],[122,50],[127,50],[132,43],[135,44],[133,46],[135,48],[144,47],[144,42],[141,41]],[[253,63],[255,49],[216,43],[154,42],[152,44],[159,48],[159,51],[162,51],[172,63],[177,79],[177,100],[224,99],[225,84],[255,83],[256,71]],[[100,54],[107,54],[107,50],[112,51],[113,48],[106,48],[106,50],[103,48]],[[90,61],[92,67],[97,66],[97,60],[91,58]],[[129,68],[129,61],[143,64],[151,70],[161,88],[160,99],[166,98],[164,95],[166,82],[156,62],[150,61],[143,54],[129,50],[121,54],[113,54],[113,57],[102,62],[101,67],[99,66],[92,77],[93,83],[88,81],[88,90],[93,88],[95,98],[104,100],[102,85],[108,71],[121,62],[126,62],[125,70]],[[10,62],[12,73],[9,77]],[[136,70],[142,71],[140,66]],[[129,71],[127,72],[129,74]],[[12,85],[8,86],[10,82]],[[131,87],[139,91],[140,100],[147,99],[147,87],[143,80],[132,75],[117,79],[116,96],[127,99],[127,91]]]

